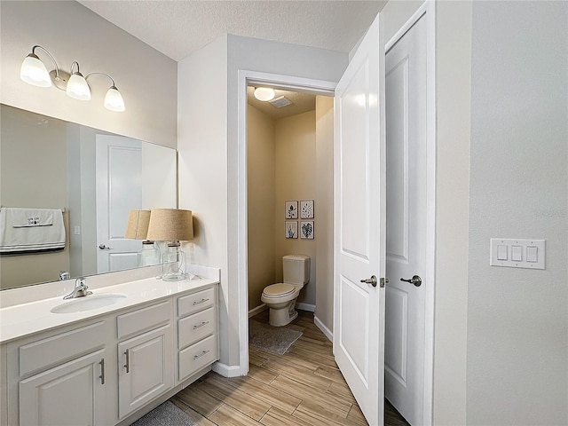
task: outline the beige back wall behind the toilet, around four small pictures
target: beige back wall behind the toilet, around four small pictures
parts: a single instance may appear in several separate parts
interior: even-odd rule
[[[276,250],[274,266],[276,280],[282,280],[282,256],[310,256],[310,282],[304,287],[297,302],[315,304],[316,302],[316,241],[319,238],[318,217],[315,216],[314,240],[300,238],[300,214],[298,212],[298,238],[285,238],[284,204],[288,200],[315,200],[316,198],[316,113],[310,111],[304,114],[292,115],[276,121]],[[318,201],[314,201],[317,209]]]

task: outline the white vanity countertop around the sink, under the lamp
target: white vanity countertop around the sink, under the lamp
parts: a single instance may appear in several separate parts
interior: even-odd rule
[[[173,296],[185,291],[195,290],[217,283],[217,280],[193,279],[181,281],[163,281],[155,278],[135,280],[108,286],[95,288],[92,295],[121,294],[125,295],[116,303],[91,309],[85,312],[52,313],[51,309],[66,302],[61,296],[49,299],[17,304],[0,309],[0,343],[7,343],[25,335],[31,335],[46,331],[54,327],[65,326],[75,321],[98,317],[109,312],[118,311],[137,304],[158,301],[162,298]],[[89,285],[89,280],[87,280]],[[85,296],[89,297],[89,296]]]

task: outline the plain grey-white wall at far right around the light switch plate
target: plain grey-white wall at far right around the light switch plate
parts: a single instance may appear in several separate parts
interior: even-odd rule
[[[468,424],[568,424],[568,3],[474,2]],[[489,266],[492,237],[546,269]]]

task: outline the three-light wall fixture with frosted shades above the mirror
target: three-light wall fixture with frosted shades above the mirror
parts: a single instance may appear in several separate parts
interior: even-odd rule
[[[50,57],[53,65],[55,65],[55,69],[52,69],[49,73],[47,72],[42,60],[36,55],[36,49],[41,49],[47,53],[47,56]],[[43,46],[36,44],[32,47],[32,52],[21,64],[20,78],[24,82],[38,87],[51,87],[51,83],[53,83],[55,87],[62,91],[66,91],[67,95],[73,99],[91,100],[91,87],[89,87],[87,79],[92,75],[104,75],[112,82],[112,85],[108,91],[106,91],[106,109],[119,113],[124,111],[124,100],[122,99],[120,91],[116,89],[113,77],[105,73],[91,73],[83,77],[83,74],[79,71],[79,63],[77,61],[74,61],[71,64],[71,69],[69,71],[70,72],[67,73],[67,71],[59,69],[57,62],[51,53]]]

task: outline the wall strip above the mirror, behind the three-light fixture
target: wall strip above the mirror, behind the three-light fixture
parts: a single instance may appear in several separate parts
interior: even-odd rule
[[[177,65],[82,4],[69,1],[0,2],[0,102],[162,146],[177,146]],[[114,78],[126,111],[103,106],[110,81],[89,79],[92,99],[67,97],[55,87],[38,88],[20,80],[22,60],[41,44],[69,71],[78,61],[83,75],[103,72]],[[36,54],[48,70],[51,59]]]

